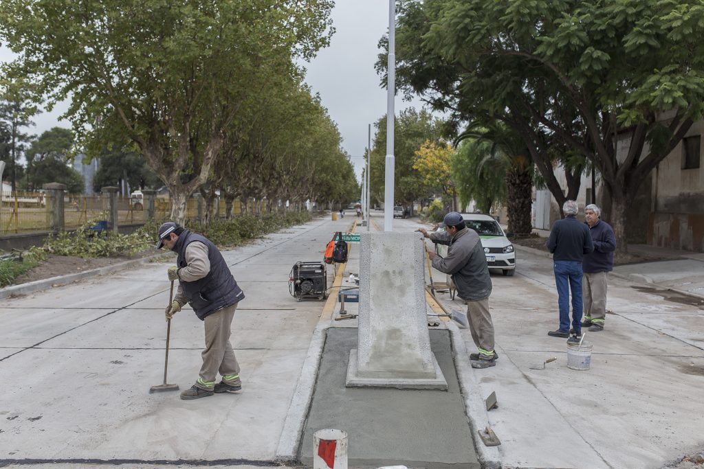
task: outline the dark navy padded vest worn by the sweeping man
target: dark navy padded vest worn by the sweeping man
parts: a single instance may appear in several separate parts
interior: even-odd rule
[[[198,319],[203,321],[208,314],[244,300],[244,292],[237,286],[237,281],[234,280],[230,269],[227,268],[220,250],[204,236],[191,233],[188,230],[184,230],[180,234],[175,246],[175,251],[178,254],[177,265],[180,268],[188,265],[186,248],[194,241],[200,241],[208,247],[210,271],[208,275],[196,281],[181,281],[181,286],[188,299],[188,304],[196,312]]]

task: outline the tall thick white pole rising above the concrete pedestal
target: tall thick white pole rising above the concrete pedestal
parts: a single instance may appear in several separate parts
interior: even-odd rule
[[[396,94],[396,0],[389,0],[389,65],[386,84],[384,231],[394,231],[394,95]]]

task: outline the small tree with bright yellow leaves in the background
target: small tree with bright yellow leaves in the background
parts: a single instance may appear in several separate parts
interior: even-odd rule
[[[413,169],[420,173],[420,177],[428,187],[436,187],[440,193],[452,201],[451,210],[457,211],[457,188],[450,172],[450,163],[454,150],[447,143],[435,145],[429,140],[415,150]]]

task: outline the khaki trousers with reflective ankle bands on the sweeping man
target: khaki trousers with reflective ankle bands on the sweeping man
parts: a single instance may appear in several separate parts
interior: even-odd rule
[[[230,326],[237,303],[215,311],[203,321],[206,330],[206,348],[201,353],[203,366],[196,386],[204,390],[215,387],[215,377],[220,372],[227,384],[239,383],[239,363],[230,344]]]

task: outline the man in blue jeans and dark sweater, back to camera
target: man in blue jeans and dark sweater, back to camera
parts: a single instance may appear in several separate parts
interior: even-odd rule
[[[570,338],[570,290],[572,291],[572,332],[569,342],[582,337],[582,260],[594,250],[589,228],[577,219],[579,205],[567,200],[562,205],[565,218],[555,221],[546,243],[553,253],[555,286],[558,288],[560,327],[548,335]]]

